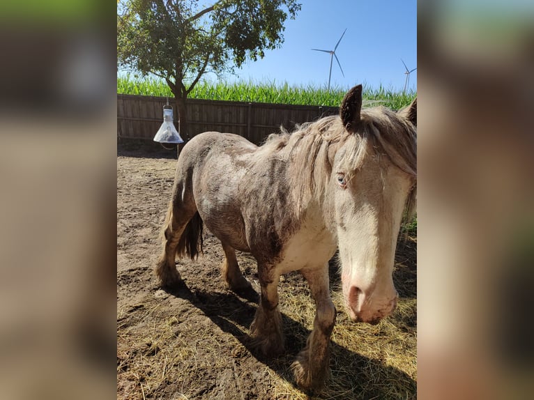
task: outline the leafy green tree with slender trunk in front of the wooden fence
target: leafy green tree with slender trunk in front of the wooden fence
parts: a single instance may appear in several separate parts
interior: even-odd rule
[[[179,130],[188,138],[186,103],[206,72],[234,72],[246,59],[263,58],[284,42],[284,22],[296,0],[123,0],[117,10],[117,63],[142,76],[165,79]]]

